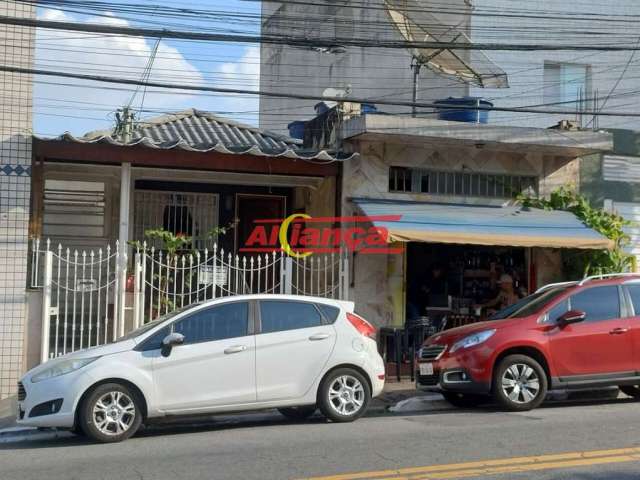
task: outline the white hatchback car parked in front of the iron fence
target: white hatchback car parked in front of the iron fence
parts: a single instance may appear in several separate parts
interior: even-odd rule
[[[50,360],[19,387],[18,423],[102,441],[147,419],[278,408],[303,419],[360,417],[382,392],[375,328],[352,302],[290,295],[208,301],[115,343]]]

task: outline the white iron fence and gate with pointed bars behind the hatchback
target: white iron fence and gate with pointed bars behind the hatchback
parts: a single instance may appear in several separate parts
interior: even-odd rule
[[[33,243],[31,287],[42,288],[42,361],[102,345],[177,308],[251,293],[348,299],[346,251],[298,259],[284,252],[168,253],[143,245],[78,251]]]

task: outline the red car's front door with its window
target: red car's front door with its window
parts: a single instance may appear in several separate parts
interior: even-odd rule
[[[621,316],[618,286],[582,290],[569,297],[567,308],[587,316],[551,333],[551,354],[559,377],[569,382],[572,377],[598,380],[635,370],[630,319]],[[575,378],[579,376],[585,378]]]

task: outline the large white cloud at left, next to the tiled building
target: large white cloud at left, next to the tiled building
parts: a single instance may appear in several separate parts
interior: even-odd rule
[[[59,10],[46,10],[42,18],[58,21],[80,21]],[[128,26],[129,23],[115,17],[87,18],[88,23]],[[91,34],[39,29],[36,40],[36,68],[92,75],[104,75],[139,80],[155,41],[136,37]],[[36,107],[36,131],[61,133],[65,130],[84,133],[94,128],[111,126],[112,115],[126,104],[135,87],[117,84],[97,84],[60,77],[39,77],[34,87]],[[166,42],[160,42],[158,54],[150,75],[151,81],[194,84],[204,83],[201,72],[187,61],[182,53]],[[55,84],[66,84],[66,86]],[[82,88],[90,84],[99,88]],[[129,91],[120,91],[126,88]],[[141,94],[134,101],[140,105]],[[147,108],[174,110],[195,103],[196,97],[188,91],[172,91],[160,94],[149,91],[144,105]],[[86,102],[86,103],[81,103]],[[100,104],[94,106],[93,103]],[[60,108],[56,108],[60,106]],[[195,106],[195,105],[194,105]],[[93,109],[95,107],[95,110]],[[65,116],[85,117],[71,119],[54,117],[52,113]],[[45,115],[49,114],[49,115]],[[91,118],[87,118],[91,117]],[[104,118],[103,121],[95,118]]]

